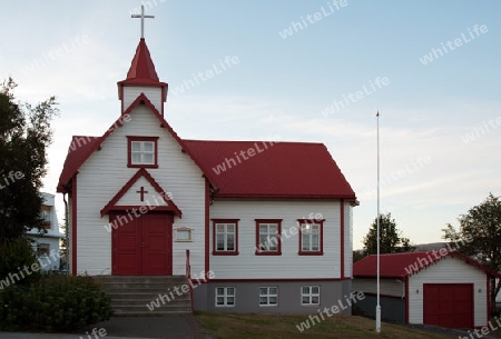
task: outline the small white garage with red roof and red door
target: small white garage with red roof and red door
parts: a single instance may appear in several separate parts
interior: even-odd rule
[[[366,298],[357,306],[374,317],[376,256],[353,266],[353,291]],[[449,328],[474,328],[490,320],[490,280],[501,275],[478,261],[440,251],[381,255],[382,319]]]

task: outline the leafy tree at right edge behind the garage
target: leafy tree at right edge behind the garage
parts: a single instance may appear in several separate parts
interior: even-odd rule
[[[480,261],[488,268],[501,270],[501,201],[500,197],[489,193],[479,206],[458,219],[459,230],[451,223],[443,229],[443,238],[455,242],[459,251]],[[501,281],[491,277],[491,307],[495,310],[495,296]]]

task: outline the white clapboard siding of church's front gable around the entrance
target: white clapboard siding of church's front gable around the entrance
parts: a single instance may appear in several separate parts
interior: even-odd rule
[[[186,265],[186,248],[191,250],[195,271],[204,269],[205,179],[187,153],[146,106],[138,106],[131,119],[117,128],[99,151],[94,152],[77,176],[78,198],[78,272],[89,275],[111,272],[111,235],[105,228],[108,216],[100,210],[124,185],[138,171],[127,168],[127,136],[159,137],[158,168],[147,169],[160,187],[171,193],[173,201],[183,211],[178,225],[194,228],[194,241],[174,243],[174,275],[183,275]],[[106,127],[107,128],[107,127]]]

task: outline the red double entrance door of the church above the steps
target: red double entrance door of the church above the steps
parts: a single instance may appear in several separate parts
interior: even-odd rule
[[[173,275],[173,215],[135,216],[112,212],[111,273],[114,276]]]

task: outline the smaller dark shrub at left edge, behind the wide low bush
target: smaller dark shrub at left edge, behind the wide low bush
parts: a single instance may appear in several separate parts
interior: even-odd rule
[[[40,279],[40,263],[29,240],[19,237],[0,242],[0,289],[12,283],[29,285]]]

